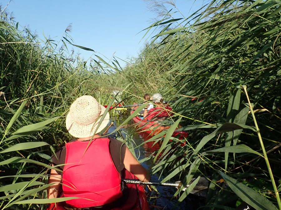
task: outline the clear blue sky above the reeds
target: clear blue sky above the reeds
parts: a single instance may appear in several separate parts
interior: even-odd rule
[[[8,2],[10,0],[0,0],[2,9]],[[202,0],[178,0],[175,3],[187,16],[202,5]],[[36,30],[39,38],[43,38],[44,33],[46,37],[59,40],[72,23],[70,35],[74,44],[91,48],[106,58],[114,54],[127,60],[138,56],[145,44],[145,39],[141,40],[145,32],[141,31],[156,17],[147,6],[147,2],[142,0],[12,0],[7,9],[13,12],[19,25],[28,25],[33,32]],[[71,48],[84,60],[92,54]],[[124,66],[125,62],[121,65]]]

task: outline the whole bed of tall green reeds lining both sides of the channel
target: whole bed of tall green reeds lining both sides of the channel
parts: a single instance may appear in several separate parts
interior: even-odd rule
[[[147,35],[154,31],[150,42],[123,69],[115,58],[95,56],[87,66],[65,56],[69,30],[62,40],[38,45],[2,14],[0,208],[45,209],[50,156],[71,138],[63,121],[69,105],[85,94],[111,105],[111,92],[120,90],[126,104],[155,92],[177,100],[165,122],[174,126],[150,139],[162,143],[150,159],[151,173],[168,174],[163,182],[185,186],[206,177],[205,209],[233,209],[242,201],[281,209],[280,8],[274,0],[217,0],[180,19],[173,18],[174,5],[147,28]],[[189,133],[185,146],[171,137],[177,124]],[[196,181],[178,189],[179,202]]]

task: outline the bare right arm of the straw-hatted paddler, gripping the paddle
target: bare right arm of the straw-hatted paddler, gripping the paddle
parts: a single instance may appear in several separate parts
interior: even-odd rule
[[[147,170],[137,161],[131,151],[126,147],[126,153],[124,158],[125,168],[134,174],[140,181],[148,182],[150,175]]]

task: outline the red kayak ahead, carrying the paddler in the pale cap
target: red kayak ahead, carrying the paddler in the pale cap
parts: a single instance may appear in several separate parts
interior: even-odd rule
[[[134,113],[134,111],[136,110],[136,108],[138,108],[138,106],[134,107],[131,110],[131,114]],[[158,133],[162,132],[163,130],[168,130],[170,128],[170,126],[159,126],[159,123],[155,122],[155,121],[147,121],[144,119],[141,119],[139,116],[136,116],[133,118],[134,123],[137,124],[137,126],[139,127],[139,129],[141,130],[141,132],[145,132],[148,133],[151,136],[155,136]],[[177,128],[179,129],[179,128]],[[172,137],[176,137],[180,140],[186,138],[188,136],[188,133],[185,131],[177,131],[175,130]]]

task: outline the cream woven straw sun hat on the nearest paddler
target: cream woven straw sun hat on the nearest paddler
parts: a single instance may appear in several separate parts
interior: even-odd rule
[[[109,122],[109,114],[106,113],[100,127],[96,128],[106,108],[100,105],[92,96],[81,96],[70,106],[66,117],[66,128],[76,138],[91,137],[99,133]],[[95,132],[96,131],[96,132]]]

